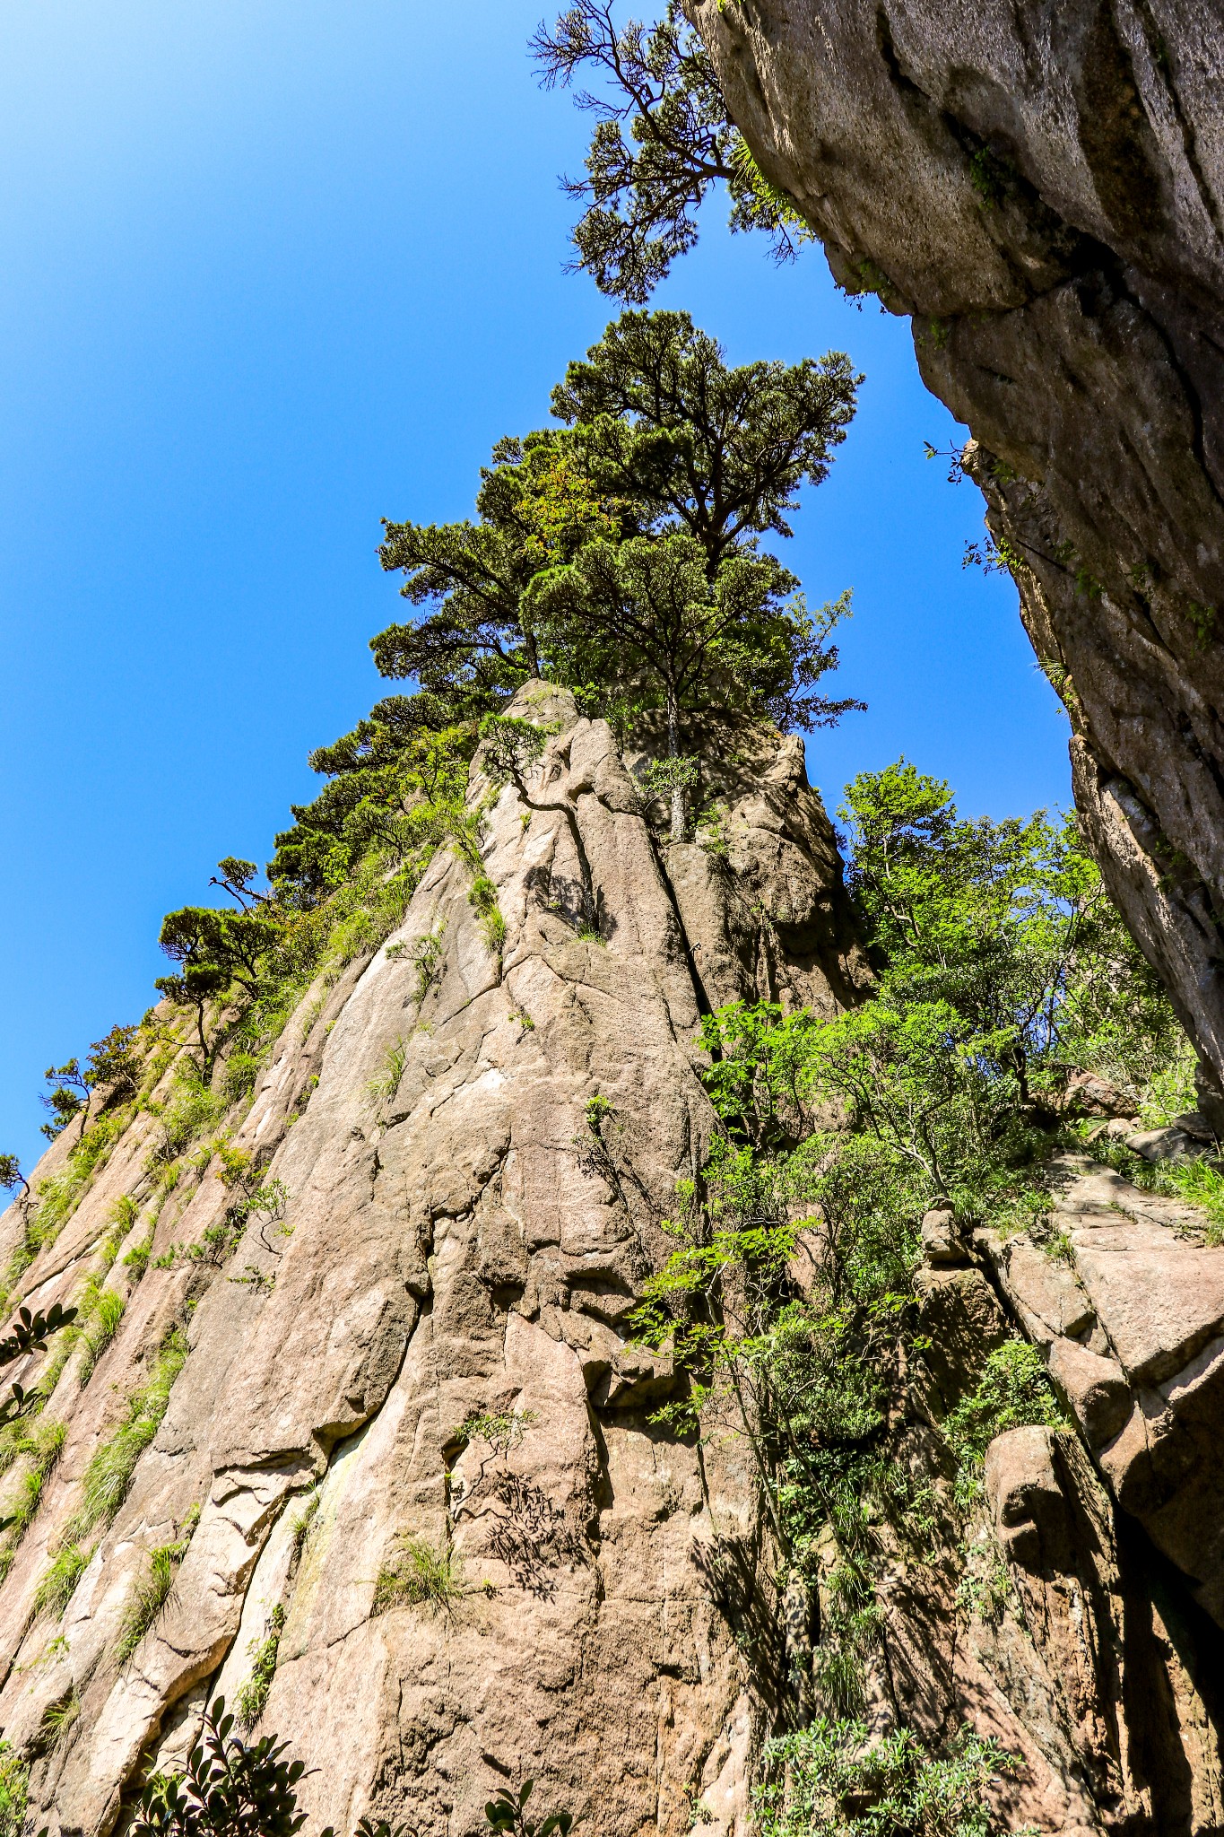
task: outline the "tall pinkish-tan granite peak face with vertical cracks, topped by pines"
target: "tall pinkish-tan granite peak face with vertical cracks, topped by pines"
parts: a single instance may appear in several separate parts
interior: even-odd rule
[[[626,1313],[708,1141],[703,1007],[833,1012],[864,964],[796,744],[729,757],[719,854],[659,849],[606,724],[543,685],[519,711],[560,733],[529,803],[505,788],[488,812],[501,957],[440,852],[235,1113],[279,1192],[237,1249],[207,1255],[231,1194],[206,1152],[147,1273],[125,1262],[163,1130],[139,1113],[24,1277],[31,1302],[68,1301],[123,1240],[123,1321],[86,1387],[77,1345],[39,1418],[66,1438],[0,1591],[0,1723],[37,1756],[53,1837],[112,1830],[138,1765],[182,1758],[206,1690],[239,1701],[277,1629],[264,1727],[314,1767],[310,1830],[369,1811],[475,1831],[525,1775],[606,1837],[686,1831],[695,1802],[745,1828],[771,1685],[743,1626],[782,1613],[754,1484],[738,1444],[699,1457],[651,1427],[672,1374],[626,1345]],[[4,1253],[22,1229],[13,1207]],[[160,1268],[172,1244],[206,1255]],[[184,1321],[156,1438],[90,1519],[90,1462],[136,1433]],[[64,1545],[83,1567],[59,1617],[39,1587]],[[167,1545],[182,1561],[141,1631]]]

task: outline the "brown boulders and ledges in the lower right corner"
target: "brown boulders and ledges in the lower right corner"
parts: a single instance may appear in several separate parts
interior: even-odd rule
[[[941,1420],[973,1387],[1009,1319],[1068,1427],[996,1437],[954,1595],[910,1582],[890,1635],[941,1659],[918,1719],[967,1718],[1024,1758],[1004,1784],[1013,1828],[1213,1831],[1224,1251],[1204,1245],[1202,1214],[1077,1155],[1031,1231],[956,1245],[945,1216],[919,1275],[929,1411]]]

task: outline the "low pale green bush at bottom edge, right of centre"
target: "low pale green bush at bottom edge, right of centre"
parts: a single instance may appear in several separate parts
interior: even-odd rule
[[[765,1749],[754,1793],[762,1837],[991,1837],[1006,1830],[989,1787],[1018,1771],[998,1741],[965,1727],[943,1754],[908,1729],[818,1718]]]

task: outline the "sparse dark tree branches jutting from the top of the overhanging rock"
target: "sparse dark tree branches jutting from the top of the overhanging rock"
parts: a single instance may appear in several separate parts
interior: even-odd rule
[[[714,64],[677,0],[661,20],[618,28],[611,0],[576,0],[532,51],[547,88],[578,88],[595,134],[585,178],[563,180],[582,206],[576,259],[606,294],[644,301],[697,241],[695,211],[719,184],[732,230],[763,230],[778,261],[811,231],[795,198],[771,186],[727,119]]]

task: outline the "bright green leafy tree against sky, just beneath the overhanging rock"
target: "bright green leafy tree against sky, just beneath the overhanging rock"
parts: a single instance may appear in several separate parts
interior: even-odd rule
[[[848,784],[839,814],[888,1005],[945,1003],[1022,1106],[1048,1110],[1085,1065],[1136,1088],[1176,1058],[1173,1010],[1074,819],[967,821],[905,759]]]

